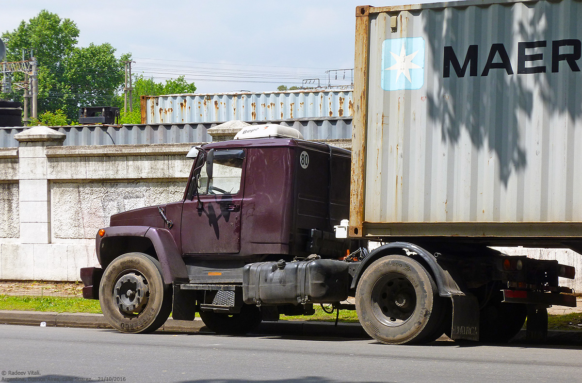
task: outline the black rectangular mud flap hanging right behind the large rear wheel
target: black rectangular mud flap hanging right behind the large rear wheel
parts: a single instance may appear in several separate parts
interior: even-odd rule
[[[450,338],[479,340],[479,302],[473,295],[452,294],[453,328]]]

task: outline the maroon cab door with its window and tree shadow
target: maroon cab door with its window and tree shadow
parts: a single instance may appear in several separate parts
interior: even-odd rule
[[[198,155],[184,201],[182,252],[239,253],[246,153],[242,149],[213,150],[210,178],[207,155]]]

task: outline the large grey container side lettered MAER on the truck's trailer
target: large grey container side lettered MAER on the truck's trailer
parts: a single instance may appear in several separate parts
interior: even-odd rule
[[[353,232],[581,236],[579,1],[356,16]]]

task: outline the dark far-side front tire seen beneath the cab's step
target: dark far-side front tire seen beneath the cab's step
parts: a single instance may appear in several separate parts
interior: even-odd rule
[[[243,304],[238,314],[200,311],[200,318],[212,332],[222,335],[241,335],[257,327],[262,321],[262,314],[257,306]]]

